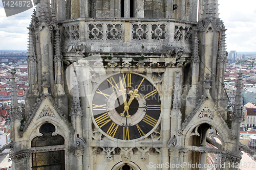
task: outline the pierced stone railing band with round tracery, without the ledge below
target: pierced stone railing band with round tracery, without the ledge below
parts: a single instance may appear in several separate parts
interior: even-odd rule
[[[80,25],[82,27],[80,27]],[[183,42],[191,43],[193,25],[175,21],[98,20],[62,24],[61,36],[70,42]]]

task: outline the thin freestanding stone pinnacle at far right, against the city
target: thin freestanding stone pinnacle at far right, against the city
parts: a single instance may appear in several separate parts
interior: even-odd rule
[[[237,95],[236,95],[236,102],[234,103],[234,110],[233,114],[231,116],[232,120],[239,120],[239,122],[243,122],[244,120],[244,114],[242,112],[242,71],[240,70],[239,76],[238,76],[238,83],[237,83]]]

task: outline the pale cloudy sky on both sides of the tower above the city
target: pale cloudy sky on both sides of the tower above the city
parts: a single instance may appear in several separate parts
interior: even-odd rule
[[[256,0],[219,0],[227,34],[227,51],[256,52]],[[33,9],[6,17],[0,2],[0,50],[27,50]]]

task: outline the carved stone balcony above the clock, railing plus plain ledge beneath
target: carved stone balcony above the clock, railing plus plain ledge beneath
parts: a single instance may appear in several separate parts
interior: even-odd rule
[[[176,19],[66,20],[61,26],[61,38],[64,52],[82,43],[87,52],[96,53],[165,53],[164,45],[190,53],[194,27],[194,22],[177,23]]]

